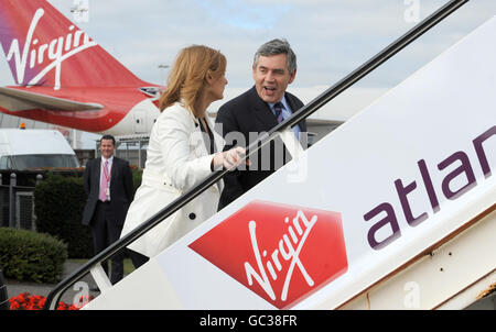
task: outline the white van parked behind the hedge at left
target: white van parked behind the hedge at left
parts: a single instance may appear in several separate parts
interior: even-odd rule
[[[0,169],[79,166],[74,150],[56,130],[0,130]]]

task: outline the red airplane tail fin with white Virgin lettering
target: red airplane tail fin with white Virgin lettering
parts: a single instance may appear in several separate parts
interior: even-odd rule
[[[45,0],[0,0],[0,43],[19,85],[147,85]]]

